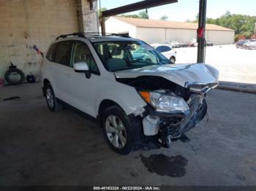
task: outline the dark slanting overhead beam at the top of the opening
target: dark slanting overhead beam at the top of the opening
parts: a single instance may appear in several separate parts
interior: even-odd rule
[[[133,12],[138,11],[141,9],[148,9],[151,7],[157,7],[165,4],[173,4],[178,2],[178,0],[145,0],[145,1],[139,1],[134,4],[127,4],[122,7],[117,7],[114,9],[109,9],[104,12],[102,12],[102,17],[110,17],[113,15],[119,15],[124,14],[126,12]]]

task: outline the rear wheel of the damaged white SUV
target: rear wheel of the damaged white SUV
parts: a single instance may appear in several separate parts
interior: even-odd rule
[[[45,100],[50,111],[59,112],[63,109],[63,106],[59,104],[59,101],[56,99],[53,87],[51,87],[50,83],[45,85]]]

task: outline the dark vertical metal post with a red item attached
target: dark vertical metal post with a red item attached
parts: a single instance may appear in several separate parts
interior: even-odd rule
[[[205,63],[206,2],[207,0],[200,0],[199,2],[197,63]]]

